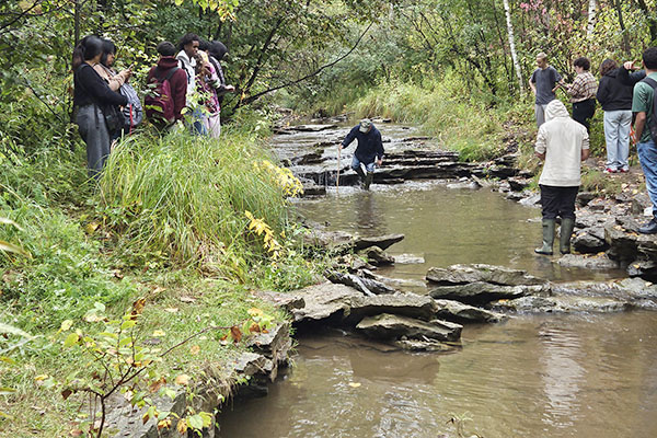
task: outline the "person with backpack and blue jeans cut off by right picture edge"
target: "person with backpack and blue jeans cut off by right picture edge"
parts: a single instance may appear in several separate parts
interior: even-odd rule
[[[653,203],[653,219],[638,229],[643,234],[657,233],[657,115],[655,115],[655,88],[657,88],[657,47],[643,53],[646,78],[634,85],[632,113],[636,115],[634,131],[638,143],[638,161],[646,176],[646,188]]]

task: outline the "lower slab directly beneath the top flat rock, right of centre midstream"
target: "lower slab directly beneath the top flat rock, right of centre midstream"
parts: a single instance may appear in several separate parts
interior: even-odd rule
[[[550,285],[500,286],[484,281],[466,285],[438,286],[429,290],[436,299],[456,300],[465,303],[486,303],[499,299],[525,297],[527,295],[550,295]]]

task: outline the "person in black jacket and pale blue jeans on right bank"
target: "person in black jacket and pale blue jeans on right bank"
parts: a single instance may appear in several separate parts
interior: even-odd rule
[[[630,170],[627,155],[630,154],[630,125],[632,124],[632,87],[621,81],[619,71],[619,66],[613,59],[602,61],[600,65],[601,79],[596,94],[604,111],[606,173]]]

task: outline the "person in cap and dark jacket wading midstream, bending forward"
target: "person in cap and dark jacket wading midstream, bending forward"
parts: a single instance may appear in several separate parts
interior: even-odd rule
[[[358,146],[351,160],[351,169],[360,176],[362,188],[369,191],[369,186],[374,178],[374,165],[381,166],[383,163],[383,141],[381,132],[374,127],[369,118],[364,118],[351,128],[347,137],[338,146],[342,150],[348,147],[354,140],[358,140]],[[367,174],[362,171],[365,165]]]

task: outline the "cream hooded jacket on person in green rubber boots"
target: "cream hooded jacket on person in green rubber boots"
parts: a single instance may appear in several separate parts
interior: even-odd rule
[[[539,128],[534,150],[545,154],[539,184],[576,187],[580,184],[581,151],[589,148],[584,125],[573,120],[558,100],[548,104],[545,123]]]

